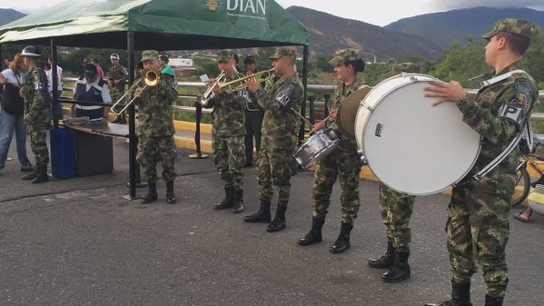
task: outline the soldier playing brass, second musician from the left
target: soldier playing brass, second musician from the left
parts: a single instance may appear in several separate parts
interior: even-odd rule
[[[239,78],[232,51],[221,50],[217,64],[229,82]],[[213,85],[215,80],[208,84]],[[224,182],[225,198],[213,206],[215,210],[232,208],[243,212],[243,165],[245,164],[245,99],[229,88],[213,89],[215,96],[205,107],[213,107],[213,161]]]

